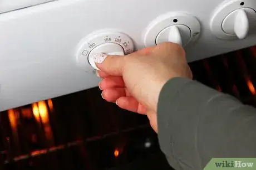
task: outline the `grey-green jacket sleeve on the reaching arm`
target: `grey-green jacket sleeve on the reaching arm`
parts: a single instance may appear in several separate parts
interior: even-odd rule
[[[164,85],[157,125],[161,150],[177,170],[203,169],[214,157],[256,157],[256,110],[193,80]]]

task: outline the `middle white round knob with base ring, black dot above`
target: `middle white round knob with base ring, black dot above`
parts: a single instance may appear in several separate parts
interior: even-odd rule
[[[146,47],[173,42],[188,49],[198,40],[200,23],[190,14],[171,12],[157,17],[145,29],[143,41]]]

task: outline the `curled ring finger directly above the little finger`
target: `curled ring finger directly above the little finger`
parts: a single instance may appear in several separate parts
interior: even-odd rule
[[[127,96],[127,90],[124,87],[116,87],[107,89],[102,92],[102,98],[109,102],[115,102],[117,99],[123,96]]]

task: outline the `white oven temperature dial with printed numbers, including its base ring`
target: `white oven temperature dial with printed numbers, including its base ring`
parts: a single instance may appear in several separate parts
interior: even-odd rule
[[[121,32],[100,30],[82,39],[78,45],[76,61],[82,69],[93,72],[95,64],[91,56],[97,53],[126,55],[134,51],[132,39]]]

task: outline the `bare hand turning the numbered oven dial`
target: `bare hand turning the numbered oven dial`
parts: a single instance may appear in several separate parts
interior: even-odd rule
[[[103,80],[102,97],[122,109],[147,115],[157,132],[157,102],[164,84],[174,77],[192,78],[185,51],[163,43],[126,56],[94,56]]]

